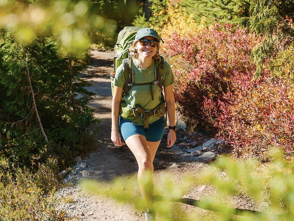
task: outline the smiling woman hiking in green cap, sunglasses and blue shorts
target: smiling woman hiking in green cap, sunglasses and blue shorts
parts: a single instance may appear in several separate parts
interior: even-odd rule
[[[156,64],[158,64],[155,61],[157,59],[160,61],[160,40],[154,29],[140,29],[130,48],[132,62],[128,64],[132,66],[134,84],[123,99],[123,87],[126,81],[124,64],[117,68],[113,81],[115,86],[112,99],[111,140],[115,146],[122,146],[121,131],[123,140],[137,160],[138,182],[145,202],[146,221],[156,220],[153,207],[152,172],[155,153],[165,129],[165,111],[167,111],[170,123],[167,147],[171,147],[176,141],[174,76],[167,62],[164,61],[162,75],[166,108],[164,97],[155,81]],[[144,84],[147,82],[153,83]]]

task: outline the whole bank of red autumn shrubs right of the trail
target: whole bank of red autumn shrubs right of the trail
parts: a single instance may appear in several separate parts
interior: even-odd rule
[[[234,155],[267,160],[271,146],[293,154],[294,94],[289,81],[270,78],[266,69],[253,81],[250,53],[259,40],[216,24],[191,36],[174,34],[167,55],[181,113],[217,129]]]

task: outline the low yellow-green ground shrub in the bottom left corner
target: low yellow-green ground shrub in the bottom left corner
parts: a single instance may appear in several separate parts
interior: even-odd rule
[[[45,169],[46,175],[41,170],[36,176],[27,170],[16,170],[15,176],[5,174],[6,182],[0,182],[0,219],[2,221],[69,220],[63,211],[56,211],[54,206],[56,200],[54,191],[58,187],[58,179],[48,173],[49,169]],[[43,173],[42,178],[41,173]],[[1,171],[0,177],[3,175]],[[41,187],[44,175],[48,176],[45,182],[51,184],[46,189]]]

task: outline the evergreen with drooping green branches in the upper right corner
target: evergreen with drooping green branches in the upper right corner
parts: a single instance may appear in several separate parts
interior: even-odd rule
[[[294,1],[251,0],[250,8],[252,16],[241,18],[240,24],[263,36],[251,54],[257,64],[255,77],[269,69],[273,77],[294,81]]]

